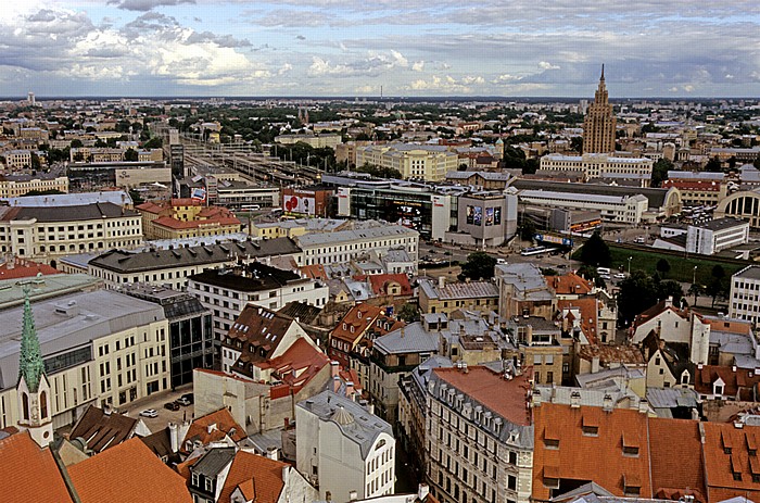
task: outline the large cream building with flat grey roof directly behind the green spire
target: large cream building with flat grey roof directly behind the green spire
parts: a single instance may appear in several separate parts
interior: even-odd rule
[[[0,312],[0,425],[15,425],[23,306]],[[72,425],[90,405],[124,406],[170,388],[169,328],[164,310],[114,291],[78,292],[33,302],[51,389],[53,428]]]

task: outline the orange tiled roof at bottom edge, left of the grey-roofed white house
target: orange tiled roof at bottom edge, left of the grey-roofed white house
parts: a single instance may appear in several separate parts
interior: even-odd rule
[[[229,503],[232,492],[240,487],[245,498],[256,503],[277,503],[284,487],[282,468],[288,466],[280,461],[238,451],[217,502]]]

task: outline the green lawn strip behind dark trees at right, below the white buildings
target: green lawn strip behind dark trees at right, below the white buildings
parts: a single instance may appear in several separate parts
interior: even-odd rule
[[[660,259],[666,259],[670,263],[670,272],[666,276],[666,279],[675,279],[682,282],[692,282],[694,277],[694,266],[697,266],[697,282],[701,285],[707,285],[712,278],[712,267],[715,264],[721,264],[723,271],[725,271],[726,276],[731,276],[737,271],[749,265],[715,262],[708,257],[693,256],[688,257],[683,255],[668,255],[664,253],[658,253],[656,251],[646,250],[630,250],[624,248],[618,248],[615,244],[609,246],[610,254],[612,255],[612,269],[622,268],[622,271],[628,272],[628,257],[631,256],[631,271],[642,269],[649,274],[657,272],[657,262]]]

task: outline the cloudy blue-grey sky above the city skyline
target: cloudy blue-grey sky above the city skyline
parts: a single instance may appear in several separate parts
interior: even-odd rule
[[[760,96],[757,0],[4,0],[0,96]]]

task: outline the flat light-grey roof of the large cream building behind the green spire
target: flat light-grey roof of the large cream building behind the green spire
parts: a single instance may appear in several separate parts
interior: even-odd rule
[[[23,310],[18,305],[0,312],[0,389],[16,385]],[[160,305],[110,290],[33,302],[31,312],[43,357],[165,319]]]

